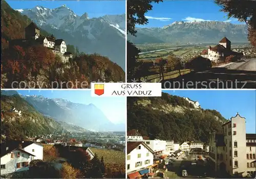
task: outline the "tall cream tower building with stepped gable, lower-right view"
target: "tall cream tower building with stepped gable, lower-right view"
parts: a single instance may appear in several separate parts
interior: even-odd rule
[[[209,158],[216,171],[245,177],[255,172],[255,147],[256,135],[246,134],[245,118],[237,114],[223,124],[222,133],[210,134]]]

